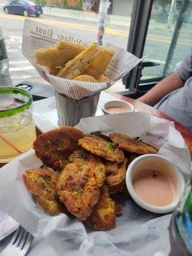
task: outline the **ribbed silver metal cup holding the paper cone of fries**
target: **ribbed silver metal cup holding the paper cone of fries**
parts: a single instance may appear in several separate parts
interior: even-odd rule
[[[58,125],[75,126],[81,118],[95,116],[100,92],[81,100],[69,99],[55,91]]]

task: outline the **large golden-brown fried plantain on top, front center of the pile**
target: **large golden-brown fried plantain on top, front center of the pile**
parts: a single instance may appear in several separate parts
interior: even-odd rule
[[[59,178],[57,193],[69,212],[85,220],[99,200],[105,167],[99,157],[84,150],[74,152],[69,162]]]

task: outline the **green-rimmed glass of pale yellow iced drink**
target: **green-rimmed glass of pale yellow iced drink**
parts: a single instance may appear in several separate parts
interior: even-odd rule
[[[31,93],[0,87],[0,162],[28,151],[36,138]]]

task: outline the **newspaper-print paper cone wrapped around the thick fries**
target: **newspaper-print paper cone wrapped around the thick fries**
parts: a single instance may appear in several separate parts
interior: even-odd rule
[[[107,83],[88,83],[81,81],[73,81],[49,74],[47,68],[35,63],[35,50],[39,48],[55,48],[61,41],[65,40],[70,43],[79,45],[89,45],[91,42],[79,35],[74,35],[61,28],[55,28],[46,24],[25,19],[24,32],[22,39],[22,53],[31,62],[33,67],[40,76],[48,83],[54,86],[58,93],[62,93],[68,98],[79,100],[84,97],[90,97],[95,93],[106,90],[119,79],[125,76],[132,68],[134,68],[142,59],[120,49],[113,44],[107,44],[109,48],[115,51],[111,62],[106,70],[106,75],[110,81]]]

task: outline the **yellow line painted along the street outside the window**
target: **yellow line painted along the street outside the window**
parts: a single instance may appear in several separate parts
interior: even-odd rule
[[[26,19],[23,16],[10,15],[10,14],[0,14],[0,18],[1,17],[4,18],[4,19],[14,19],[14,20],[24,20],[24,19]],[[29,18],[29,17],[27,19],[33,20],[33,18]],[[56,21],[56,20],[47,20],[47,19],[41,19],[41,18],[36,18],[35,20],[39,21],[39,22],[42,22],[44,24],[49,24],[49,25],[54,25],[54,26],[61,26],[61,27],[65,27],[65,28],[74,28],[74,29],[79,28],[79,29],[83,29],[83,30],[86,30],[86,31],[93,31],[94,33],[97,32],[97,27],[96,26],[94,27],[94,26],[88,26],[88,25],[83,25],[83,24],[76,24],[76,23],[70,23],[70,22],[60,22],[60,21]],[[111,35],[119,35],[119,36],[122,36],[122,37],[125,37],[125,38],[127,38],[127,36],[129,36],[129,31],[119,30],[119,29],[112,29],[112,28],[106,28],[105,33],[106,34],[111,34]],[[148,34],[147,40],[148,41],[163,42],[163,43],[166,43],[166,44],[170,44],[172,38],[170,36],[161,36],[161,35]],[[191,46],[192,45],[192,40],[181,38],[181,39],[179,39],[177,44]]]

